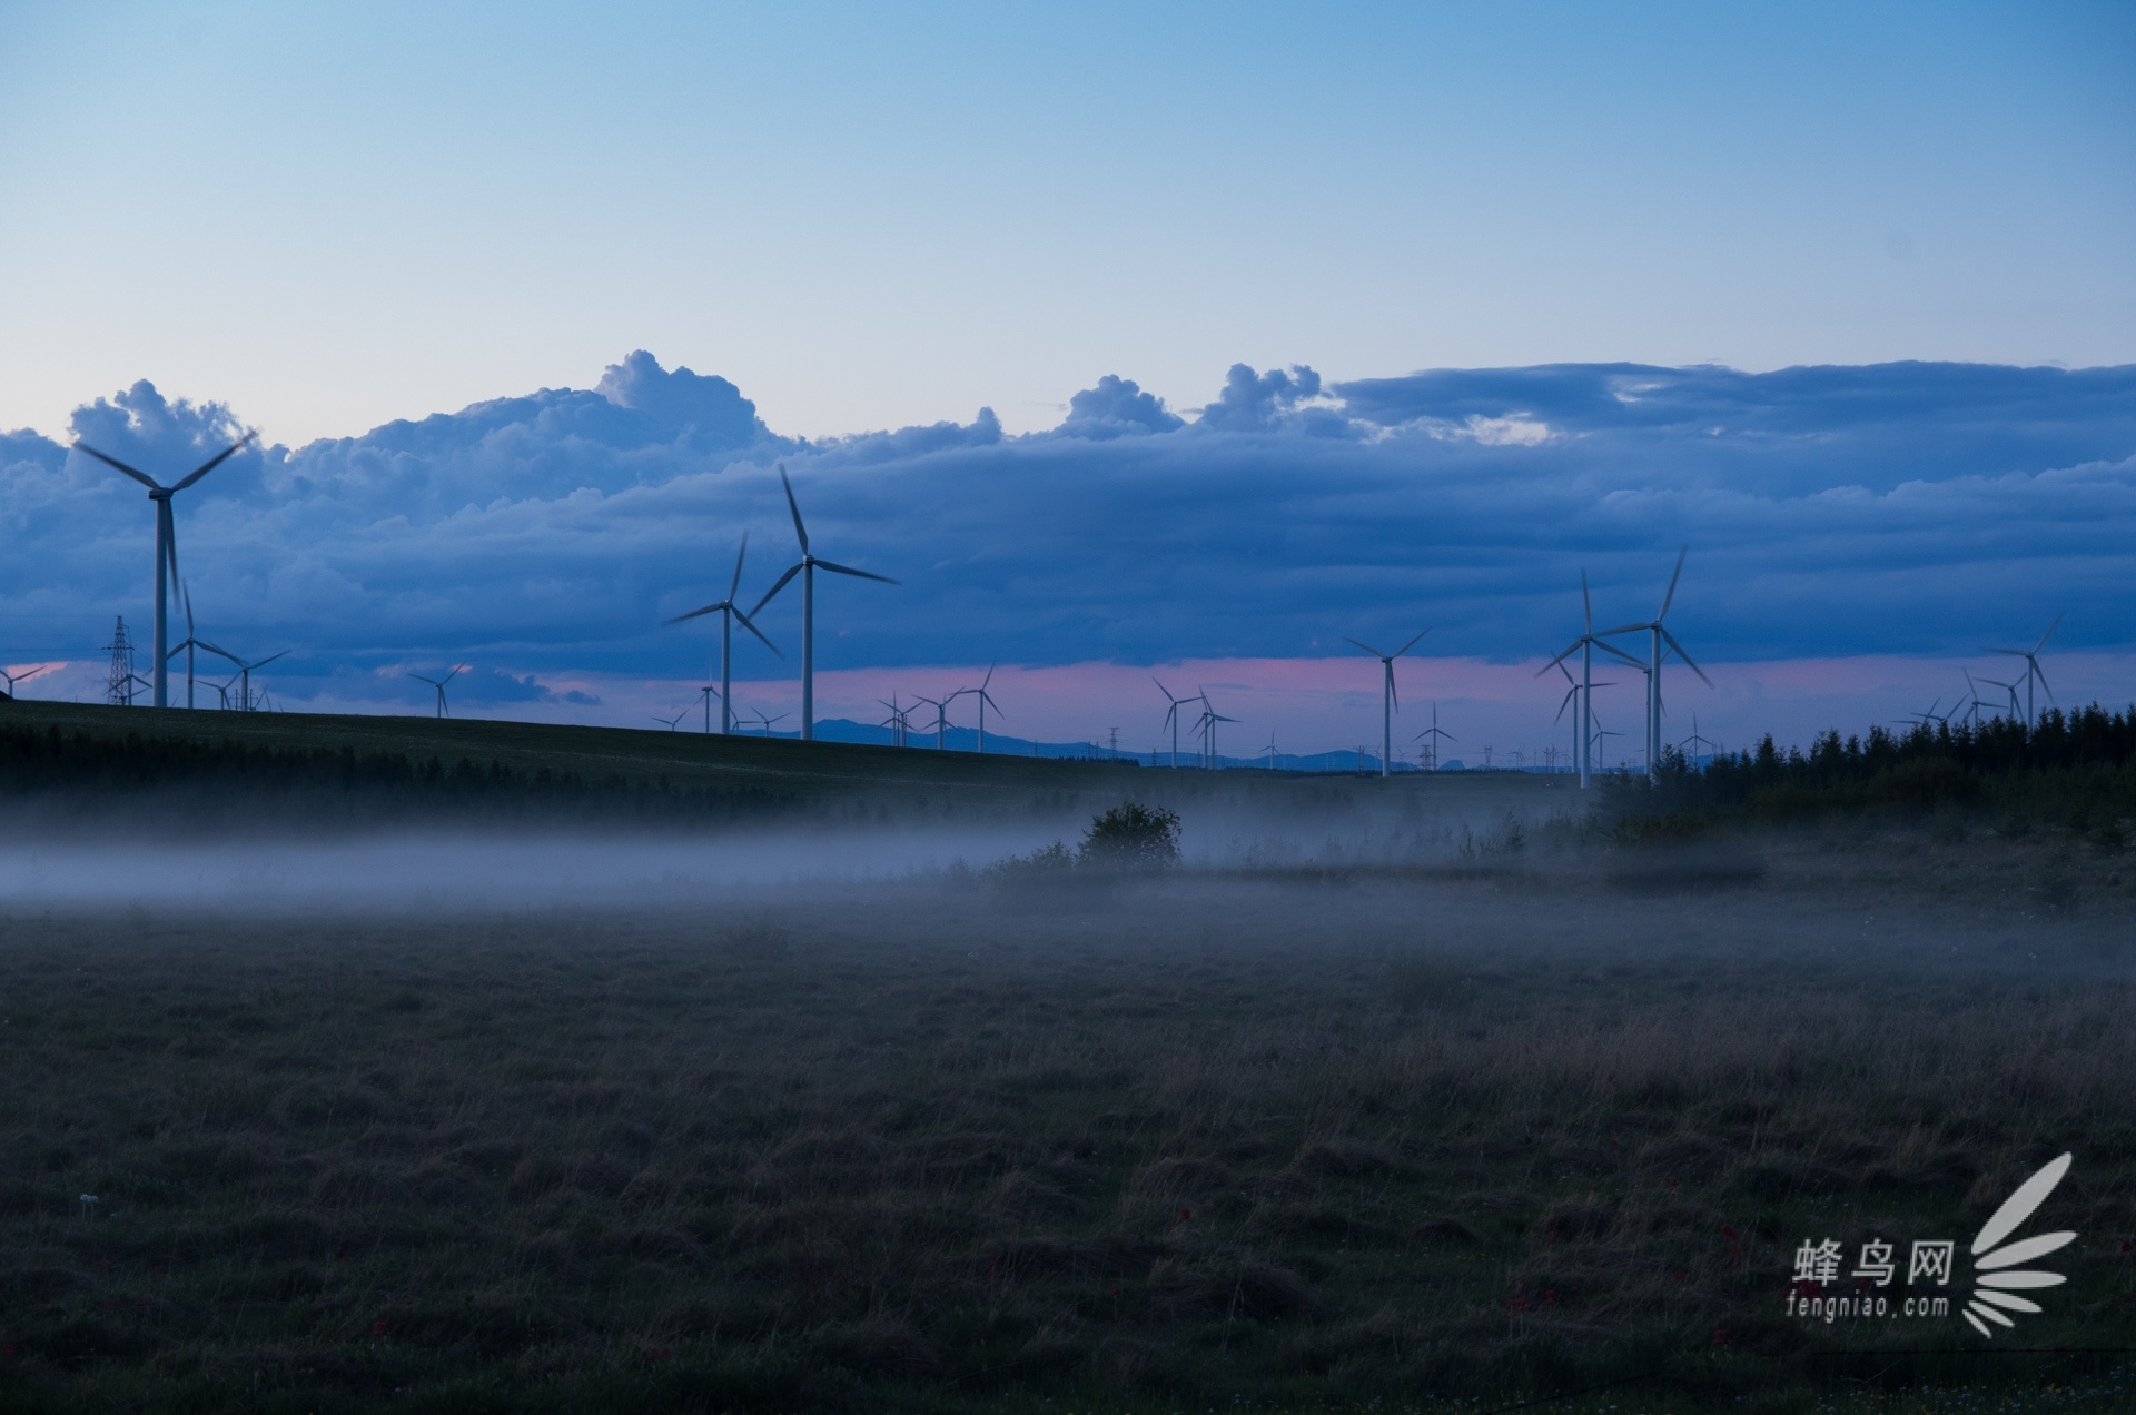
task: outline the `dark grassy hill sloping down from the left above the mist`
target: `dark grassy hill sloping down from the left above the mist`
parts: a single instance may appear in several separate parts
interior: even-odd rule
[[[314,823],[440,806],[602,819],[803,812],[891,821],[912,812],[1057,814],[1130,795],[1183,812],[1222,804],[1337,814],[1388,802],[1489,814],[1572,799],[1570,778],[1521,774],[1173,772],[626,727],[36,701],[0,705],[0,793],[62,812],[143,793],[199,812],[214,797],[218,812],[231,802],[250,812],[286,806]]]

